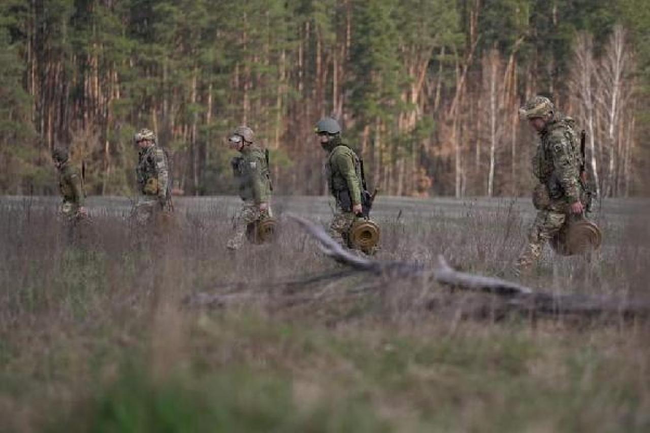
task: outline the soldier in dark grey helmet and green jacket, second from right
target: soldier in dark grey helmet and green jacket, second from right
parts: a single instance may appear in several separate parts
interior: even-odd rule
[[[348,246],[348,231],[361,215],[361,169],[359,157],[341,140],[341,126],[333,118],[322,118],[315,127],[320,146],[328,152],[325,172],[328,187],[336,200],[336,211],[330,222],[332,239],[342,246]]]

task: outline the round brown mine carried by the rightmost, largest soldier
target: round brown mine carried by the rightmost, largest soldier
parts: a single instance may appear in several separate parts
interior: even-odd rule
[[[564,226],[551,238],[551,247],[562,256],[575,256],[598,250],[603,242],[603,233],[587,218],[569,218]]]

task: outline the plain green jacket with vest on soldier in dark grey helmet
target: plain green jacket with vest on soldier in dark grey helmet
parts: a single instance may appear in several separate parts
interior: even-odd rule
[[[359,157],[341,140],[331,142],[325,163],[330,192],[344,211],[361,204],[361,167]]]

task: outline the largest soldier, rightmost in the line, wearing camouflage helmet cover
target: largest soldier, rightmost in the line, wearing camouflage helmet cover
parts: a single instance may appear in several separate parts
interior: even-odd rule
[[[573,119],[557,112],[548,98],[536,96],[519,114],[538,132],[540,142],[532,159],[539,180],[533,194],[538,209],[528,244],[516,269],[530,269],[541,256],[544,244],[557,233],[571,214],[584,212],[584,187],[580,181],[580,144]]]

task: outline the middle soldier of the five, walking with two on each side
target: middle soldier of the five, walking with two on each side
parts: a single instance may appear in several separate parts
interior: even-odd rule
[[[235,220],[235,235],[226,246],[229,250],[239,250],[244,244],[248,224],[271,216],[271,181],[266,154],[255,144],[250,127],[237,127],[228,138],[228,144],[240,153],[231,164],[244,203]]]

